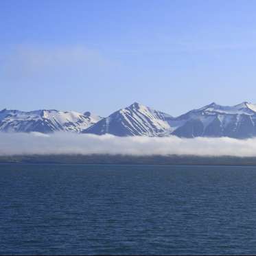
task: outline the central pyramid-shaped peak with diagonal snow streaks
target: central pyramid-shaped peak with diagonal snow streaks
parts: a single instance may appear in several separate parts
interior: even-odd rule
[[[166,136],[170,133],[168,121],[171,119],[170,115],[135,102],[103,118],[83,132],[96,135],[109,133],[117,136]]]

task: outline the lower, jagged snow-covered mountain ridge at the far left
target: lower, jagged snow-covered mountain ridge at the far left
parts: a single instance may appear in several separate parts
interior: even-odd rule
[[[80,132],[95,124],[101,117],[86,112],[80,114],[74,111],[34,110],[24,112],[19,110],[0,111],[0,131],[4,132]]]

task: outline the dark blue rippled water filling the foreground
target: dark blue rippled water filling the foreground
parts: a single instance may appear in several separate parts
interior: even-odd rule
[[[255,171],[0,165],[0,254],[255,254]]]

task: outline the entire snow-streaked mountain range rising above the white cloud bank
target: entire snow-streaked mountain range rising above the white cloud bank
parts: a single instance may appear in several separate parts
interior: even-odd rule
[[[95,135],[165,137],[232,137],[256,136],[256,104],[242,102],[235,106],[211,103],[172,117],[137,102],[108,117],[90,112],[34,110],[0,111],[2,132],[80,132]]]

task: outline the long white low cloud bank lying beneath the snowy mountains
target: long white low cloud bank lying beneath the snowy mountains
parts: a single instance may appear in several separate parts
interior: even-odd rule
[[[0,155],[130,154],[197,156],[256,156],[256,138],[115,137],[56,132],[0,133]]]

